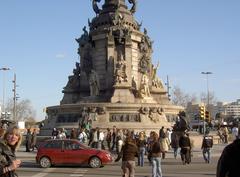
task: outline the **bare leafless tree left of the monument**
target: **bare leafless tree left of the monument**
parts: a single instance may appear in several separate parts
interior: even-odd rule
[[[6,111],[13,115],[13,100],[7,102]],[[31,105],[31,101],[26,99],[16,104],[16,120],[15,121],[33,121],[35,122],[36,112]]]

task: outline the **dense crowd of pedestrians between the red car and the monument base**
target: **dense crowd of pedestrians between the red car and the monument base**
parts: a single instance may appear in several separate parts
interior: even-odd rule
[[[159,132],[150,132],[149,136],[144,131],[134,132],[128,129],[118,129],[116,126],[106,130],[99,127],[89,130],[73,128],[69,133],[64,128],[59,130],[54,128],[52,138],[77,139],[92,148],[109,150],[117,156],[116,161],[122,159],[123,176],[134,176],[135,157],[138,159],[137,165],[143,167],[146,156],[152,165],[153,177],[161,177],[161,160],[166,158],[170,149],[173,149],[175,159],[180,154],[184,165],[191,162],[192,142],[189,134],[187,132],[179,134],[179,132],[165,127],[162,127]],[[202,148],[204,152],[208,153],[210,150],[205,144],[208,143],[203,143]],[[210,157],[206,157],[208,158],[206,161],[209,162]]]

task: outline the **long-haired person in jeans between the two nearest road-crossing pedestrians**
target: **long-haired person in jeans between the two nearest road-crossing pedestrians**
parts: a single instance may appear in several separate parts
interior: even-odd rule
[[[139,151],[139,156],[138,156],[138,166],[143,167],[144,166],[144,155],[146,151],[146,138],[144,132],[139,133],[139,138],[137,139],[137,146],[138,146],[138,151]]]

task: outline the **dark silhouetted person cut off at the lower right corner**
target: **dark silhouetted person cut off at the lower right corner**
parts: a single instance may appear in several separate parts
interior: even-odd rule
[[[217,164],[217,177],[239,177],[240,134],[231,144],[227,145]]]

